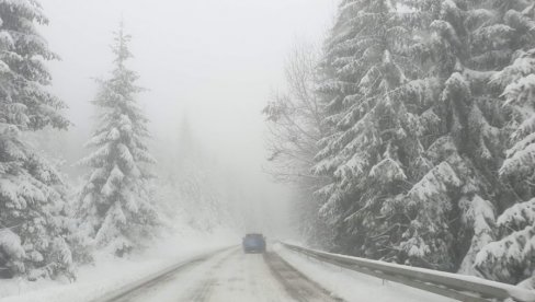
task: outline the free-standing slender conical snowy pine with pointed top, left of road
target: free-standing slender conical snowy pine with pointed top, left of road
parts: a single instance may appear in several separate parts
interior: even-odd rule
[[[117,256],[143,245],[158,222],[150,190],[155,160],[145,142],[148,119],[135,98],[143,89],[135,84],[138,74],[126,67],[132,57],[129,40],[121,24],[112,47],[114,69],[110,79],[99,81],[93,101],[100,116],[87,143],[94,152],[81,160],[90,173],[78,212],[83,232],[96,248],[105,247]]]

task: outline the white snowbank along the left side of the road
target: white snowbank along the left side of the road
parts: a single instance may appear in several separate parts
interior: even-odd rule
[[[96,255],[94,265],[78,269],[78,280],[73,283],[50,280],[0,280],[0,301],[90,301],[173,264],[235,244],[239,244],[239,236],[230,231],[206,234],[184,230],[180,234],[160,239],[143,254],[126,259],[105,254]]]

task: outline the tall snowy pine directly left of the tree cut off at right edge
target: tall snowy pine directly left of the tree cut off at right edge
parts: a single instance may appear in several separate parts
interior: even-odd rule
[[[409,264],[447,270],[463,264],[467,272],[477,252],[492,240],[494,211],[510,195],[496,173],[505,118],[487,82],[513,53],[512,28],[497,11],[499,1],[402,2],[420,14],[422,42],[414,48],[424,59],[422,81],[439,88],[433,114],[440,127],[426,146],[432,169],[406,197],[417,206],[407,209],[419,213],[398,248]]]

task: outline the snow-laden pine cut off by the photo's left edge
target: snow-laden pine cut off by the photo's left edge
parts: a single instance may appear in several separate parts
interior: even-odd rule
[[[57,59],[36,24],[34,0],[0,1],[0,269],[30,279],[71,274],[66,186],[23,132],[66,129],[65,104],[50,94],[45,61]]]

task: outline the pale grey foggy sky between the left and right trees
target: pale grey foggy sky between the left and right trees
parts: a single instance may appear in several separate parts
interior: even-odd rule
[[[61,156],[71,175],[93,125],[98,85],[111,69],[112,34],[123,20],[132,34],[130,67],[148,91],[138,100],[151,120],[151,150],[160,165],[184,118],[205,153],[240,186],[239,206],[263,223],[249,229],[286,231],[287,189],[264,172],[261,109],[282,89],[285,58],[296,39],[320,40],[334,0],[43,0],[50,20],[42,28],[60,61],[49,63],[53,92],[75,124]],[[161,166],[159,169],[161,171]],[[72,176],[75,177],[75,176]],[[262,225],[262,226],[259,226]]]

